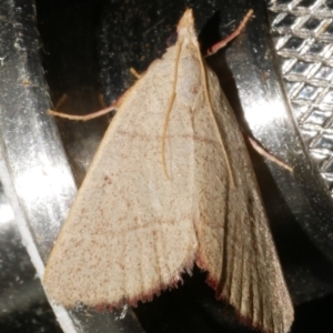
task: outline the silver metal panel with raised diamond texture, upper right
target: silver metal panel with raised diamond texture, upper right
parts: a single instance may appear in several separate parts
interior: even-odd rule
[[[271,11],[294,118],[333,196],[333,1],[274,1]]]

